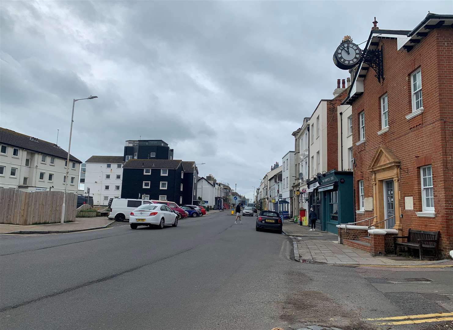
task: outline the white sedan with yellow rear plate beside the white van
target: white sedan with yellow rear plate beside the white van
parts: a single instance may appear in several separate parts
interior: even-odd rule
[[[137,229],[137,226],[178,226],[178,216],[167,205],[145,204],[136,208],[130,213],[130,228]]]

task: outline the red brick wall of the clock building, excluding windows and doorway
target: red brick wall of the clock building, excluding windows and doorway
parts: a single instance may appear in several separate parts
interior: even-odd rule
[[[364,93],[352,104],[353,154],[356,159],[355,189],[363,180],[365,197],[373,197],[372,175],[368,170],[377,148],[385,145],[401,161],[399,180],[403,235],[409,228],[440,230],[440,247],[444,255],[453,249],[453,29],[434,29],[415,44],[409,53],[397,50],[396,39],[382,39],[385,80],[381,83],[370,68],[364,80]],[[421,68],[422,115],[409,121],[412,112],[410,74]],[[381,130],[380,97],[388,95],[390,130]],[[360,146],[358,115],[365,111],[366,142]],[[422,211],[420,166],[432,165],[435,218],[418,217]],[[414,209],[406,210],[404,197],[412,196]],[[398,211],[397,211],[398,212]],[[373,216],[357,214],[357,221]],[[397,213],[396,216],[399,216]]]

